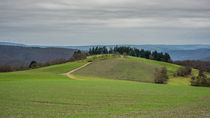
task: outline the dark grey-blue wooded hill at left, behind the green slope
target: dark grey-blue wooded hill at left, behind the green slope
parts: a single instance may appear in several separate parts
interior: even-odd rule
[[[31,61],[47,62],[54,59],[69,59],[74,49],[40,48],[0,45],[0,65],[28,65]]]

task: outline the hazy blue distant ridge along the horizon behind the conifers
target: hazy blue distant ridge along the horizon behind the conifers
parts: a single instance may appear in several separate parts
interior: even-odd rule
[[[23,47],[40,47],[47,48],[49,46],[38,46],[38,45],[24,45],[10,42],[0,42],[0,45],[13,45]],[[88,51],[89,48],[97,45],[88,46],[54,46],[55,48],[66,48],[66,49],[79,49]],[[112,48],[115,45],[99,45]],[[122,45],[119,45],[122,46]],[[210,45],[123,45],[135,47],[138,49],[145,50],[157,50],[159,52],[167,52],[171,55],[172,60],[210,60]]]

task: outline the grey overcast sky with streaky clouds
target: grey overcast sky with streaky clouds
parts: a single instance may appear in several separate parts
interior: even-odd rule
[[[210,0],[0,0],[0,41],[210,44]]]

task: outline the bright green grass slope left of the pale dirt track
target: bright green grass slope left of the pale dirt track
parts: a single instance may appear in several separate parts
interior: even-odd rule
[[[85,63],[87,61],[84,60],[26,71],[0,73],[0,81],[68,79],[66,76],[60,76],[59,74],[78,68]]]

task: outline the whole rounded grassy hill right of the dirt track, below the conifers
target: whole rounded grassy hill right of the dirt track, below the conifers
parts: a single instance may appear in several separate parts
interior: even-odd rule
[[[106,78],[117,80],[130,80],[141,82],[154,82],[156,68],[167,67],[168,75],[176,73],[180,66],[160,61],[137,57],[119,57],[94,62],[89,66],[73,73],[75,76],[85,78]]]

